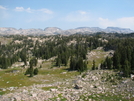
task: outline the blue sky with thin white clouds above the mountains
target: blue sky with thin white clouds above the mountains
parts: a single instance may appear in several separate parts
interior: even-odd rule
[[[134,30],[134,0],[0,0],[0,27],[108,26]]]

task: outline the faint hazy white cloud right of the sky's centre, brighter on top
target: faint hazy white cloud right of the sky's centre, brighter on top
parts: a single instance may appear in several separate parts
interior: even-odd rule
[[[66,21],[69,22],[86,22],[86,21],[90,21],[90,15],[88,12],[86,11],[76,11],[76,12],[72,12],[70,14],[68,14],[65,17]]]

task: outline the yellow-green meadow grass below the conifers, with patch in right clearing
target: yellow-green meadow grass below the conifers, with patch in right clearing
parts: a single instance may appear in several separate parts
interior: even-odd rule
[[[88,68],[92,67],[92,61],[96,61],[96,66],[104,60],[105,52],[103,50],[93,50],[94,52],[100,52],[98,55],[99,58],[96,56],[92,57],[88,61]],[[69,66],[61,66],[55,67],[51,61],[44,61],[41,65],[42,68],[39,68],[39,74],[30,78],[24,75],[26,69],[21,69],[21,67],[16,67],[14,69],[6,69],[0,71],[0,88],[8,88],[8,87],[23,87],[23,86],[30,86],[33,84],[41,84],[41,83],[54,83],[54,82],[62,82],[66,79],[72,79],[76,75],[80,73],[77,71],[68,71]],[[52,68],[53,66],[53,68]],[[19,72],[12,73],[13,70],[18,70]],[[50,89],[43,88],[43,89]],[[0,91],[0,95],[7,93],[8,91]]]

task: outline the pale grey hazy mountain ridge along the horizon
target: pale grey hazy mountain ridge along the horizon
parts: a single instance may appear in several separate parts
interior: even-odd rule
[[[75,34],[75,33],[85,33],[85,34],[93,34],[96,32],[105,32],[105,33],[132,33],[133,30],[129,28],[119,28],[119,27],[107,27],[106,29],[102,29],[99,27],[78,27],[75,29],[62,30],[57,27],[47,27],[43,29],[15,29],[11,27],[2,27],[0,28],[0,34],[2,35],[56,35],[56,34]]]

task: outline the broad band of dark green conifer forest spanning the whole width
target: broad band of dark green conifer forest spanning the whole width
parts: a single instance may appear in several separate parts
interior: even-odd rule
[[[108,34],[108,37],[104,37],[106,33],[102,32],[95,35],[4,36],[11,38],[12,42],[0,44],[0,68],[6,69],[18,61],[27,65],[33,57],[36,59],[55,57],[55,66],[68,65],[70,70],[82,72],[87,69],[87,52],[102,46],[105,51],[115,50],[115,53],[113,57],[107,57],[102,62],[101,69],[117,69],[123,72],[124,76],[129,76],[134,70],[134,39],[128,36],[133,36],[133,33],[116,34]]]

